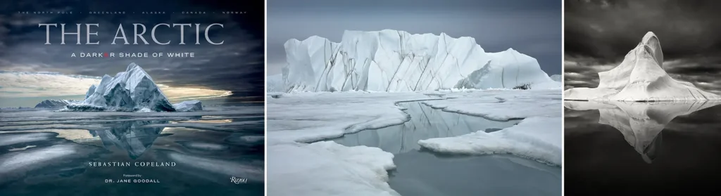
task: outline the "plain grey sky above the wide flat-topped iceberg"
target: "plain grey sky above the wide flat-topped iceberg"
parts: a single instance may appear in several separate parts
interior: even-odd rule
[[[513,48],[536,58],[548,74],[561,73],[558,0],[269,0],[267,74],[286,64],[283,43],[311,35],[340,42],[344,30],[446,32],[474,37],[488,52]]]

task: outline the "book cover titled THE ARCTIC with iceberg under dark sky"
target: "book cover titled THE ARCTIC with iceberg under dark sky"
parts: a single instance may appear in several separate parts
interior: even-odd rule
[[[264,195],[264,1],[0,3],[0,195]]]

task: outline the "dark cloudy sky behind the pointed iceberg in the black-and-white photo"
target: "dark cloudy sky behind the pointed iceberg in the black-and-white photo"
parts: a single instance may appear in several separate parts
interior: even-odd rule
[[[598,86],[646,32],[663,48],[665,71],[721,92],[721,1],[565,0],[565,85]]]

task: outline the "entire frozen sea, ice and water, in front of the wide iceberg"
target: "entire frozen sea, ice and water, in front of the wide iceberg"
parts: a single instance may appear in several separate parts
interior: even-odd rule
[[[268,195],[561,195],[560,94],[272,94]]]

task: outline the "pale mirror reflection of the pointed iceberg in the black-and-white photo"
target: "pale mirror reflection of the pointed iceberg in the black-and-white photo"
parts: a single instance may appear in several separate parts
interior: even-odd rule
[[[598,123],[619,130],[649,164],[658,156],[661,130],[673,118],[717,104],[721,102],[564,102],[571,110],[598,110]]]

